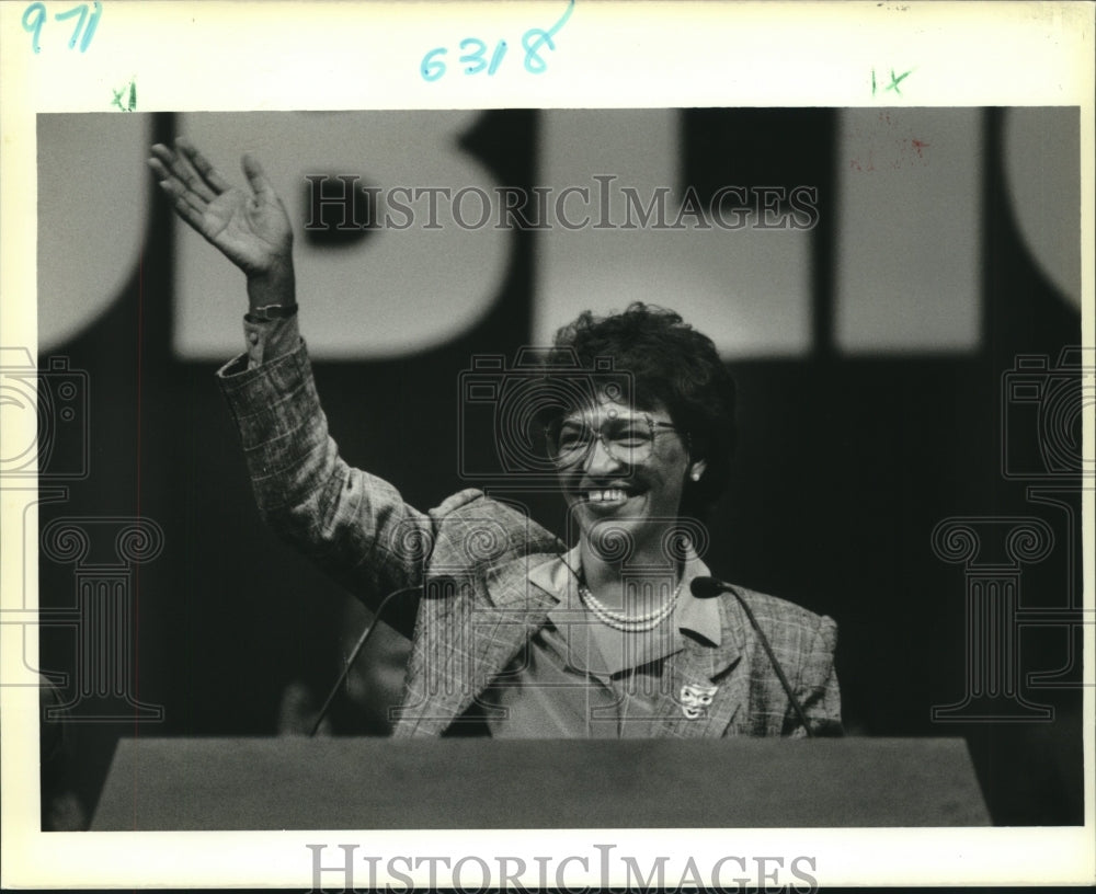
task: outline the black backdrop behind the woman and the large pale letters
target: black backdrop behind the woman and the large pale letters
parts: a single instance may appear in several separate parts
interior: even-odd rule
[[[698,188],[784,182],[820,190],[813,348],[807,357],[732,364],[742,439],[730,492],[711,518],[706,561],[719,577],[838,621],[837,671],[850,734],[964,736],[996,823],[1077,824],[1083,812],[1078,626],[1019,629],[1019,696],[1051,707],[1052,720],[944,724],[931,717],[933,706],[959,702],[966,691],[964,572],[934,553],[931,534],[937,523],[971,515],[1044,519],[1054,547],[1047,559],[1023,569],[1025,610],[1068,605],[1071,581],[1080,582],[1080,535],[1070,530],[1068,512],[1032,502],[1031,482],[1007,480],[1001,469],[1003,437],[1029,465],[1041,461],[1037,409],[1024,416],[1021,429],[1005,427],[1016,421],[1003,415],[1003,375],[1017,354],[1044,354],[1053,366],[1063,346],[1081,340],[1080,313],[1040,272],[1002,199],[1004,114],[982,113],[979,347],[847,357],[835,349],[832,323],[832,221],[842,210],[833,188],[834,113],[681,113],[686,180]],[[174,127],[172,115],[157,116],[156,139],[171,138]],[[535,111],[484,113],[464,146],[494,169],[499,182],[529,185],[537,128]],[[803,160],[785,148],[804,141],[821,151]],[[730,181],[727,169],[735,172]],[[340,668],[339,642],[345,635],[340,631],[351,622],[353,634],[364,617],[351,615],[345,595],[259,522],[214,378],[219,364],[173,357],[172,245],[181,226],[158,197],[140,268],[107,312],[50,352],[89,373],[92,473],[70,484],[66,502],[42,506],[41,528],[61,516],[139,515],[163,529],[162,554],[139,565],[133,578],[137,614],[129,695],[162,706],[164,713],[161,721],[141,721],[135,711],[132,722],[91,723],[81,722],[83,708],[73,704],[61,750],[44,765],[47,790],[67,792],[69,806],[50,818],[47,805],[47,828],[88,822],[118,736],[285,732],[287,687],[297,686],[313,700],[324,692]],[[537,233],[517,234],[492,311],[441,348],[391,362],[316,364],[332,433],[352,465],[398,483],[421,508],[466,486],[452,450],[423,445],[457,443],[452,383],[472,354],[513,356],[528,342],[536,257]],[[369,285],[365,278],[361,284]],[[302,307],[307,301],[301,296]],[[39,313],[48,313],[41,298]],[[1058,379],[1063,375],[1066,385],[1078,385],[1075,375]],[[1080,411],[1070,424],[1080,432]],[[491,450],[491,433],[481,437],[480,448]],[[1078,481],[1059,482],[1074,517],[1080,517]],[[546,525],[561,523],[555,498],[535,496],[528,504]],[[73,591],[72,565],[43,555],[42,607],[71,608]],[[70,675],[58,687],[62,699],[75,698],[79,661],[75,630],[47,621],[41,630],[42,669]],[[1037,688],[1027,679],[1058,669],[1055,687]],[[50,743],[55,727],[44,726]],[[383,727],[344,703],[333,732],[381,733]]]

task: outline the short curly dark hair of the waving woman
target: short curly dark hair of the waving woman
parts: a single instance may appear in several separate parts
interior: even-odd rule
[[[683,514],[703,514],[726,490],[738,439],[737,389],[711,339],[680,313],[633,301],[620,312],[595,317],[583,311],[559,329],[549,365],[562,357],[594,368],[597,358],[630,374],[637,408],[661,403],[674,425],[688,433],[693,459],[707,468],[699,481],[686,480]]]

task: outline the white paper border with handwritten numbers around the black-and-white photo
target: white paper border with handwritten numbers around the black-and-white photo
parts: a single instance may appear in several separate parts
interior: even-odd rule
[[[72,4],[50,3],[50,11]],[[34,54],[26,2],[0,4],[0,333],[5,345],[36,340],[35,116],[101,112],[112,89],[139,84],[140,111],[867,106],[869,72],[915,69],[910,105],[1071,105],[1081,108],[1082,332],[1093,331],[1092,3],[615,3],[578,0],[556,36],[549,68],[515,68],[491,80],[420,73],[423,53],[466,33],[521,34],[550,27],[567,9],[552,2],[292,3],[102,0],[94,48]],[[671,26],[672,25],[672,26]],[[729,41],[728,35],[734,39]],[[733,46],[733,53],[728,50]],[[215,66],[201,60],[215,58]],[[275,61],[276,60],[276,61]],[[121,112],[119,112],[121,114]],[[1092,456],[1092,408],[1084,438]],[[3,500],[3,608],[34,592],[36,568],[12,554],[23,517]],[[1093,492],[1084,494],[1092,530]],[[31,524],[36,518],[28,517]],[[1085,537],[1085,607],[1093,609],[1092,538]],[[22,660],[22,627],[2,626],[2,673]],[[1085,825],[985,829],[572,829],[368,833],[372,853],[460,856],[592,855],[597,844],[630,853],[728,852],[817,858],[822,885],[1078,884],[1094,858],[1093,654],[1084,630]],[[13,647],[14,646],[16,647]],[[36,642],[30,637],[32,666]],[[364,841],[364,834],[49,833],[39,830],[38,694],[2,686],[4,886],[258,887],[311,884],[309,844]],[[733,848],[728,841],[733,838]],[[707,857],[705,857],[705,855]],[[328,858],[329,861],[332,858]],[[413,873],[425,879],[424,870]],[[591,871],[586,882],[596,883]],[[582,873],[569,872],[578,884]],[[616,880],[620,881],[620,880]]]

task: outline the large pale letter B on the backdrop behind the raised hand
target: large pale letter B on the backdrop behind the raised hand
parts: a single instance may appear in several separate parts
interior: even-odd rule
[[[407,229],[380,227],[358,242],[316,245],[302,238],[309,220],[308,176],[330,177],[327,194],[356,176],[358,188],[379,188],[374,213],[406,215],[384,202],[397,187],[466,187],[493,195],[490,172],[458,145],[479,112],[275,112],[187,114],[179,131],[202,148],[221,173],[243,183],[239,159],[254,151],[286,203],[296,236],[297,291],[302,329],[313,357],[378,359],[444,344],[476,324],[496,297],[511,233],[493,228],[426,229],[425,194],[409,203]],[[478,221],[475,197],[465,218]],[[361,221],[365,222],[365,221]],[[243,275],[192,232],[178,240],[174,347],[189,358],[229,357],[241,349],[247,309]]]

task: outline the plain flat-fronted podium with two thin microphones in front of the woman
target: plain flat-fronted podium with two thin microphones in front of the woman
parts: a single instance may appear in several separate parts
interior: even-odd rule
[[[121,740],[93,830],[984,826],[961,738]]]

